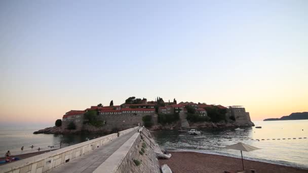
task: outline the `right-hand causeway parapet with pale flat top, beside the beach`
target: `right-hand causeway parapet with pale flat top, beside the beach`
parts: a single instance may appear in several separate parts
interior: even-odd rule
[[[107,160],[99,165],[93,173],[126,173],[130,172],[129,166],[132,159],[138,157],[138,143],[140,133],[135,133]]]

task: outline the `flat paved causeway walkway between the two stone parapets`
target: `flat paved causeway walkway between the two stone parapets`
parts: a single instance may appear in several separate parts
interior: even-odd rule
[[[118,150],[136,131],[118,137],[117,139],[101,146],[98,149],[92,150],[85,155],[76,157],[71,161],[59,165],[48,172],[51,173],[92,173],[100,164],[102,164],[114,151]]]

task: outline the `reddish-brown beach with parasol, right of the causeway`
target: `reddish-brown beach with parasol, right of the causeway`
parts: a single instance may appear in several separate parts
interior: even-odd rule
[[[224,171],[238,172],[242,170],[242,160],[235,157],[227,157],[214,154],[204,154],[197,152],[169,152],[172,154],[170,159],[159,159],[160,165],[168,164],[174,173],[201,173],[201,172],[219,172]],[[298,169],[290,166],[271,164],[259,161],[245,160],[245,171],[273,173],[273,172],[308,172],[308,170]]]

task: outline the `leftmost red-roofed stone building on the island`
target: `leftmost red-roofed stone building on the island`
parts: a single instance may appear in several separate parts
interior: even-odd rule
[[[70,110],[66,112],[62,118],[62,129],[67,128],[68,124],[73,122],[76,126],[76,129],[80,130],[83,127],[85,113],[86,111],[82,110]]]

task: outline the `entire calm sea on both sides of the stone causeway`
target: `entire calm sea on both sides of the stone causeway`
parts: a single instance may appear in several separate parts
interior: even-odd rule
[[[243,152],[243,157],[268,163],[275,163],[308,169],[308,120],[253,121],[262,128],[241,129],[199,129],[201,135],[192,136],[178,131],[154,131],[154,138],[161,148],[173,151],[194,151],[241,157],[240,151],[224,149],[227,145],[242,142],[257,148]],[[12,155],[58,149],[98,138],[97,134],[50,135],[33,132],[46,126],[0,126],[0,157],[10,150]],[[34,147],[31,148],[30,146]],[[21,147],[24,150],[21,151]]]

